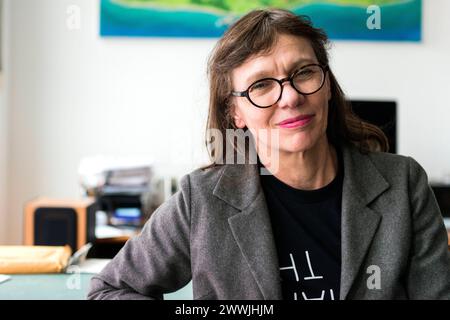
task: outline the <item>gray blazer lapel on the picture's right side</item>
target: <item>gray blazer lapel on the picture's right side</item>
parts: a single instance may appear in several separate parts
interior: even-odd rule
[[[343,158],[341,300],[347,297],[381,221],[368,205],[389,188],[369,156],[348,146]]]

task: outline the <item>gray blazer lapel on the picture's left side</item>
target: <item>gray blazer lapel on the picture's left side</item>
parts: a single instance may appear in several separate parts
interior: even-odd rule
[[[240,210],[228,223],[262,296],[281,299],[278,257],[257,165],[226,165],[213,194]]]

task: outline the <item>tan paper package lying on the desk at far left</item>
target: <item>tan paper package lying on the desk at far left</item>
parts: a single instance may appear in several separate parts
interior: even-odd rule
[[[71,254],[69,246],[0,246],[0,273],[60,273]]]

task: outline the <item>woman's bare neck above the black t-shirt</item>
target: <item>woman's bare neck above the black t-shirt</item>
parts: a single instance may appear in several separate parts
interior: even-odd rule
[[[265,159],[261,158],[265,165]],[[266,167],[278,180],[301,190],[315,190],[328,185],[336,177],[338,159],[335,148],[324,139],[303,152],[279,152],[276,170]]]

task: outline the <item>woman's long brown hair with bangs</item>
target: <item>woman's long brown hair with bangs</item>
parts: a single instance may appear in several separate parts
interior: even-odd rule
[[[210,97],[205,141],[212,164],[207,167],[225,163],[225,153],[216,150],[227,144],[226,129],[235,129],[230,103],[232,70],[251,56],[270,52],[280,34],[309,40],[319,64],[329,64],[328,37],[323,30],[313,27],[307,16],[282,9],[265,9],[251,11],[236,21],[218,41],[208,60]],[[389,145],[383,131],[352,112],[331,68],[328,76],[332,95],[328,105],[328,141],[333,145],[354,144],[363,153],[386,152]],[[222,141],[212,139],[209,129],[220,130]],[[234,142],[232,145],[237,152]]]

